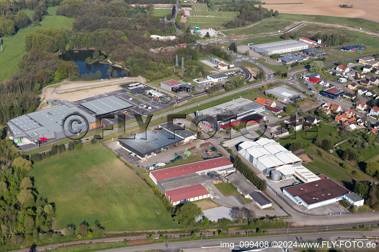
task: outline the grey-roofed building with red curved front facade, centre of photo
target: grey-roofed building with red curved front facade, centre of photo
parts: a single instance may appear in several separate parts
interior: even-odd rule
[[[196,111],[195,116],[205,127],[218,131],[234,125],[253,125],[265,121],[266,117],[258,114],[263,110],[265,110],[265,105],[238,98],[202,111]]]

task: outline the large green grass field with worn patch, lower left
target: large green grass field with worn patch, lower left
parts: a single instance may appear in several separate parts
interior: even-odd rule
[[[30,176],[39,196],[55,203],[54,229],[83,220],[106,230],[178,227],[146,183],[100,144],[37,162]]]

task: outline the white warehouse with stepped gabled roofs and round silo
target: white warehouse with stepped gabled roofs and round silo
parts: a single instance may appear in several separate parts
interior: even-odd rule
[[[260,138],[238,145],[238,153],[257,167],[271,180],[297,178],[304,183],[319,180],[302,165],[302,160],[273,139]],[[280,173],[279,173],[280,172]]]

